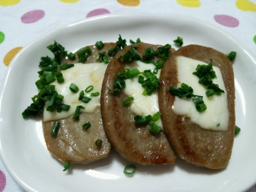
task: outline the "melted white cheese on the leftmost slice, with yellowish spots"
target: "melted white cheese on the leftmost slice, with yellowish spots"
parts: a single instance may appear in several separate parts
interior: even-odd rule
[[[57,81],[55,81],[51,85],[55,85],[55,90],[58,92],[58,94],[62,94],[64,96],[62,103],[71,106],[68,112],[48,112],[46,111],[48,103],[46,103],[44,105],[43,121],[67,118],[68,116],[74,114],[77,105],[82,105],[85,107],[85,109],[81,108],[80,112],[93,113],[95,109],[101,105],[101,96],[91,96],[91,93],[101,93],[102,80],[106,68],[107,65],[104,63],[76,63],[72,68],[62,71],[64,82],[59,84]],[[71,83],[76,84],[79,88],[77,93],[73,93],[71,90],[69,90]],[[78,98],[80,91],[85,90],[90,85],[93,85],[93,90],[90,93],[86,93],[84,91],[84,96],[91,98],[91,100],[88,103],[79,101]]]

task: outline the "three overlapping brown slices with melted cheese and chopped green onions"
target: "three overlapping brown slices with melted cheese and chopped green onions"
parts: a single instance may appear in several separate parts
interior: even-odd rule
[[[228,165],[235,126],[235,52],[156,45],[119,35],[116,43],[69,53],[54,41],[41,57],[39,93],[23,118],[41,116],[48,150],[65,167],[106,158],[210,169]],[[132,172],[133,173],[133,172]],[[129,174],[129,172],[127,172]]]

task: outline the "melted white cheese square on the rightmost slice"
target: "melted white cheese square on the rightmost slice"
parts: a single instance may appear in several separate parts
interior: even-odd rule
[[[183,56],[178,56],[176,58],[177,73],[179,84],[184,83],[193,88],[193,94],[203,96],[203,101],[207,106],[207,110],[204,112],[197,112],[196,107],[192,99],[175,97],[174,105],[172,105],[172,110],[177,115],[182,115],[190,118],[194,124],[199,125],[203,129],[227,131],[229,125],[229,110],[227,108],[227,91],[222,79],[221,71],[218,67],[213,66],[213,70],[216,73],[215,79],[213,79],[213,84],[218,84],[219,88],[224,90],[220,96],[213,95],[207,97],[205,92],[207,89],[204,85],[199,84],[198,77],[192,74],[196,71],[197,65],[207,65],[207,63],[201,62],[199,60],[190,59]],[[217,126],[219,124],[219,126]]]

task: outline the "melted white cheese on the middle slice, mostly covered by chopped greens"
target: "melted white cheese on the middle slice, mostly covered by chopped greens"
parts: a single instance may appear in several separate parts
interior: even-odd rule
[[[139,71],[143,72],[144,70],[151,69],[154,70],[155,66],[153,64],[146,64],[140,61],[135,61],[127,65],[127,68],[134,69],[137,68]],[[156,74],[157,78],[160,76],[161,70],[158,69],[158,73]],[[158,105],[158,90],[151,93],[151,95],[144,96],[143,91],[144,88],[138,83],[138,76],[133,77],[132,79],[126,79],[126,88],[123,89],[124,93],[128,97],[133,97],[134,100],[130,105],[130,110],[135,113],[136,115],[140,116],[147,116],[147,115],[154,115],[155,113],[159,112],[159,105]],[[155,122],[158,126],[161,127],[163,130],[163,125],[161,118]]]

